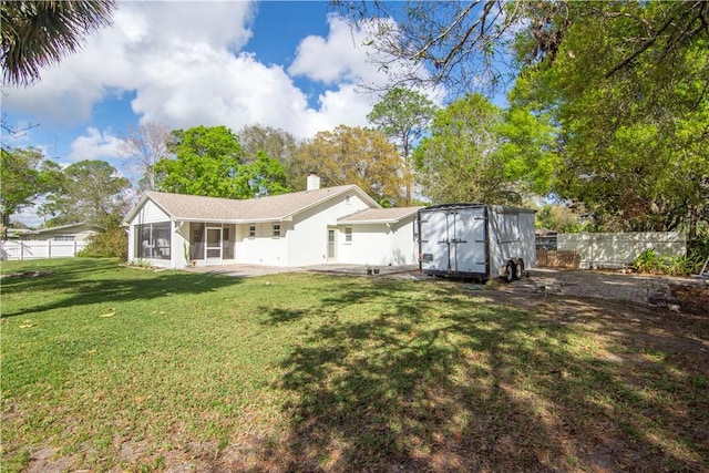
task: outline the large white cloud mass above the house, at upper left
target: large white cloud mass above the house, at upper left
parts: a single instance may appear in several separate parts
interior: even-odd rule
[[[354,84],[387,78],[367,62],[360,30],[330,16],[328,35],[304,39],[292,64],[265,65],[242,51],[254,14],[249,2],[120,2],[112,28],[45,70],[40,83],[10,90],[3,106],[40,122],[93,125],[96,103],[129,91],[143,122],[171,128],[224,124],[238,131],[259,123],[309,137],[339,124],[367,124],[377,97]],[[315,107],[294,75],[328,85]],[[70,161],[114,152],[117,138],[93,126],[72,142]]]

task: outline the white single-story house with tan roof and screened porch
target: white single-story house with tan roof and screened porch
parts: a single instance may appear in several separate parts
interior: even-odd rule
[[[417,210],[310,176],[308,191],[244,200],[146,192],[122,225],[129,260],[161,267],[413,265]]]

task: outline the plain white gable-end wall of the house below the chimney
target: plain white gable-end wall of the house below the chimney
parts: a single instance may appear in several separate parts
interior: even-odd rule
[[[349,204],[346,196],[349,195]],[[288,260],[286,266],[308,266],[328,263],[328,225],[335,226],[338,218],[354,214],[356,212],[371,208],[357,194],[343,194],[329,199],[314,208],[298,214],[291,223],[291,232],[287,238]],[[340,249],[340,241],[345,240],[345,234],[336,233],[336,248]],[[332,263],[336,263],[339,255]]]

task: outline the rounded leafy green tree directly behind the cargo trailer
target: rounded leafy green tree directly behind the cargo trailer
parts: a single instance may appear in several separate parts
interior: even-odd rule
[[[556,155],[551,128],[525,110],[504,112],[481,94],[440,110],[413,154],[423,194],[434,203],[520,204],[548,189]]]

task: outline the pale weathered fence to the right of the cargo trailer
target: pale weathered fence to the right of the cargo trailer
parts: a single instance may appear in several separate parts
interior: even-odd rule
[[[623,268],[646,249],[655,249],[659,256],[684,256],[687,238],[679,232],[558,234],[556,249],[578,253],[582,269]]]

